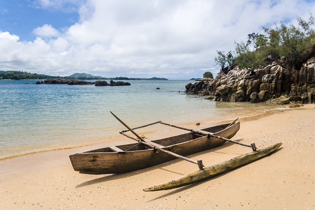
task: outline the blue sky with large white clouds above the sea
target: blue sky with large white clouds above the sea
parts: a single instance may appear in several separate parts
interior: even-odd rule
[[[315,0],[0,0],[0,70],[190,79]]]

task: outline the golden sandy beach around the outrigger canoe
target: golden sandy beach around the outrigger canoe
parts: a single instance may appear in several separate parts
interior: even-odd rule
[[[286,106],[284,106],[286,107]],[[315,106],[240,119],[232,140],[258,148],[283,142],[272,155],[231,172],[186,187],[142,189],[197,170],[173,160],[121,175],[84,175],[73,171],[68,156],[113,142],[25,155],[0,161],[0,209],[315,209]],[[195,125],[188,125],[196,127]],[[202,124],[198,127],[207,127]],[[158,139],[155,133],[150,139]],[[251,152],[232,143],[188,156],[205,166]]]

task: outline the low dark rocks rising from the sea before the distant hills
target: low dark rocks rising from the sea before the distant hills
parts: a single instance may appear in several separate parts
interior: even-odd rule
[[[117,81],[114,82],[110,80],[108,84],[105,80],[98,80],[96,82],[87,82],[85,80],[77,80],[77,79],[65,79],[65,78],[54,78],[54,79],[46,79],[45,84],[68,84],[68,85],[94,85],[95,86],[125,86],[130,85],[129,82]]]

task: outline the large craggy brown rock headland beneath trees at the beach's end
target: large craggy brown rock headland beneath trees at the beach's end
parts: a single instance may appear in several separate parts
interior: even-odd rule
[[[202,79],[186,86],[186,93],[213,96],[221,102],[270,102],[285,96],[289,101],[315,103],[315,62],[299,70],[274,62],[261,69],[235,67],[215,79]]]

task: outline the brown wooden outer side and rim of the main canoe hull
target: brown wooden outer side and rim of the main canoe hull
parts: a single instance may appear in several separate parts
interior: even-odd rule
[[[204,129],[204,131],[212,132],[218,131],[220,128],[225,128],[216,132],[215,135],[230,139],[238,132],[240,128],[240,122],[234,123],[230,127],[226,128],[228,125],[229,124],[214,126]],[[216,138],[209,139],[208,137],[193,139],[192,136],[192,133],[188,133],[162,140],[153,140],[153,142],[164,145],[165,147],[163,149],[182,156],[187,156],[200,151],[211,149],[220,146],[225,142],[224,140]],[[188,141],[180,142],[185,138],[191,138],[191,140],[188,139]],[[173,144],[174,142],[180,143]],[[128,146],[131,147],[132,145],[136,144],[137,143],[128,144]],[[123,148],[124,145],[117,147]],[[176,159],[175,157],[166,153],[156,152],[154,149],[142,149],[126,152],[98,151],[102,151],[102,149],[70,155],[73,169],[83,174],[121,174],[148,168]]]

